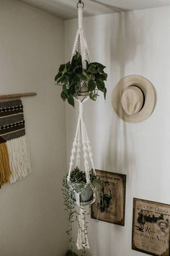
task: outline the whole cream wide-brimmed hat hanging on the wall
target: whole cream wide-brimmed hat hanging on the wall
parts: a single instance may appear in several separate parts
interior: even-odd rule
[[[153,85],[140,75],[124,77],[112,93],[115,112],[121,119],[130,123],[148,119],[155,103],[156,93]]]

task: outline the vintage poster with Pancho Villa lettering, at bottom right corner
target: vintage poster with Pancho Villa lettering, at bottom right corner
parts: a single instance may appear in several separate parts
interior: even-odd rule
[[[132,249],[169,256],[170,205],[133,199]]]

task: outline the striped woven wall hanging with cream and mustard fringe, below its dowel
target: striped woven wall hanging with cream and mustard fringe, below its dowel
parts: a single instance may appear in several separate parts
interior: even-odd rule
[[[0,99],[0,185],[31,171],[21,99]]]

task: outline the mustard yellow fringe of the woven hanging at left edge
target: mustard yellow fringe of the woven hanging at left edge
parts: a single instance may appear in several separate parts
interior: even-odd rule
[[[9,182],[9,177],[12,172],[9,166],[9,154],[6,147],[6,142],[0,144],[0,187],[6,182]]]

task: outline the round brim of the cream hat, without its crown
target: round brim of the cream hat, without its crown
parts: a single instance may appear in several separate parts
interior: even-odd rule
[[[124,90],[132,85],[138,86],[138,88],[143,91],[143,94],[145,95],[145,102],[143,104],[143,108],[138,113],[128,115],[122,108],[121,98]],[[118,82],[112,93],[112,106],[115,109],[115,112],[121,119],[130,123],[138,123],[148,119],[153,112],[155,103],[156,93],[153,85],[149,80],[140,75],[124,77],[120,82]]]

